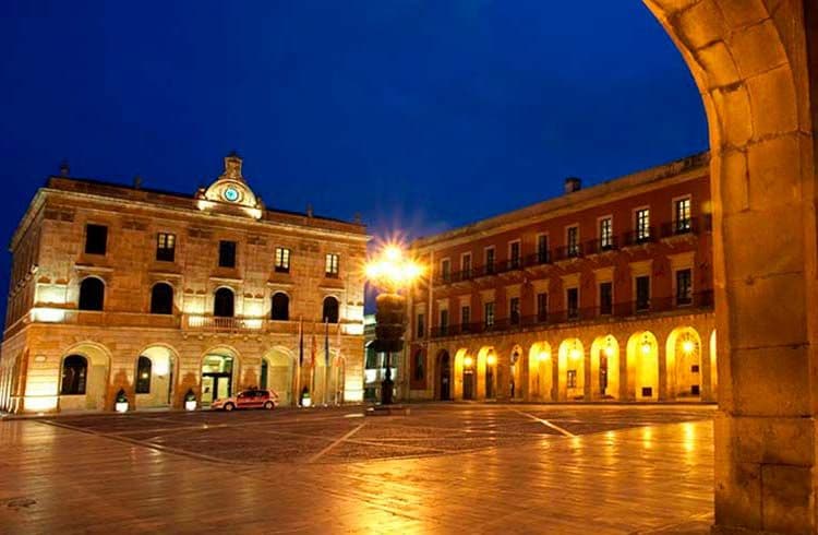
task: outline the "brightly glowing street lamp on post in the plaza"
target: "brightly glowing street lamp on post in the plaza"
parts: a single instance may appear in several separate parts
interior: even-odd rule
[[[381,404],[392,404],[392,354],[404,349],[406,329],[406,297],[401,290],[410,287],[422,274],[423,266],[406,257],[397,243],[387,243],[369,259],[366,278],[383,292],[377,295],[375,312],[375,350],[386,354],[386,372],[381,382]]]

